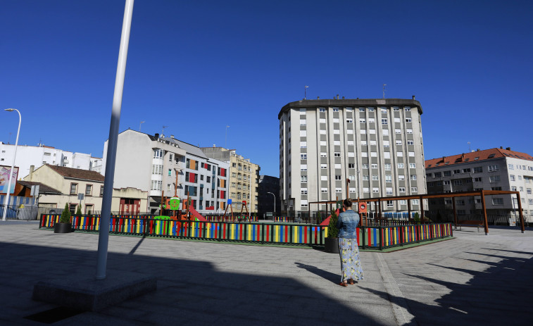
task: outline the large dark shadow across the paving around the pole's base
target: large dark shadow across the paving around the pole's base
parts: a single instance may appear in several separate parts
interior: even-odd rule
[[[298,282],[297,275],[227,272],[198,259],[108,253],[108,270],[156,275],[158,290],[99,313],[75,315],[58,325],[385,325]],[[0,261],[4,266],[0,270],[0,324],[11,325],[23,323],[25,315],[54,308],[30,299],[35,283],[90,275],[96,253],[0,242]],[[332,282],[339,277],[310,265],[299,267]],[[239,270],[239,266],[232,269]],[[332,287],[331,291],[342,289]]]

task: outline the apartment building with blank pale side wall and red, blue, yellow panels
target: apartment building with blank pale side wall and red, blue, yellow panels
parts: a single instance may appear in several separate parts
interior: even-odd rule
[[[107,160],[104,144],[104,171]],[[229,163],[208,158],[199,147],[173,136],[154,136],[134,130],[118,134],[115,188],[148,192],[149,212],[158,211],[161,196],[192,200],[201,214],[222,213],[227,201]]]

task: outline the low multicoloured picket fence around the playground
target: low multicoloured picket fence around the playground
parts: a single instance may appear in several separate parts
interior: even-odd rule
[[[42,215],[39,227],[53,228],[60,218],[61,215]],[[74,215],[71,220],[75,231],[99,231],[99,215]],[[157,220],[128,215],[113,215],[109,221],[109,232],[307,246],[323,245],[327,237],[327,227],[320,225]],[[387,249],[452,236],[451,223],[357,228],[357,243],[363,249]]]

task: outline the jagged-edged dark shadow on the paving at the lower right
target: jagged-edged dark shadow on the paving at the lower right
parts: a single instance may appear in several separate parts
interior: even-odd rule
[[[406,274],[422,282],[439,284],[450,290],[449,294],[435,300],[435,304],[422,303],[408,297],[396,298],[375,289],[365,287],[361,289],[377,294],[383,299],[399,299],[396,302],[406,304],[403,308],[415,315],[418,325],[531,325],[533,285],[530,280],[533,275],[533,258],[496,257],[501,257],[502,261],[494,263],[472,260],[489,265],[490,267],[484,272],[435,265],[472,275],[472,279],[466,284]],[[408,284],[404,286],[408,287]]]

